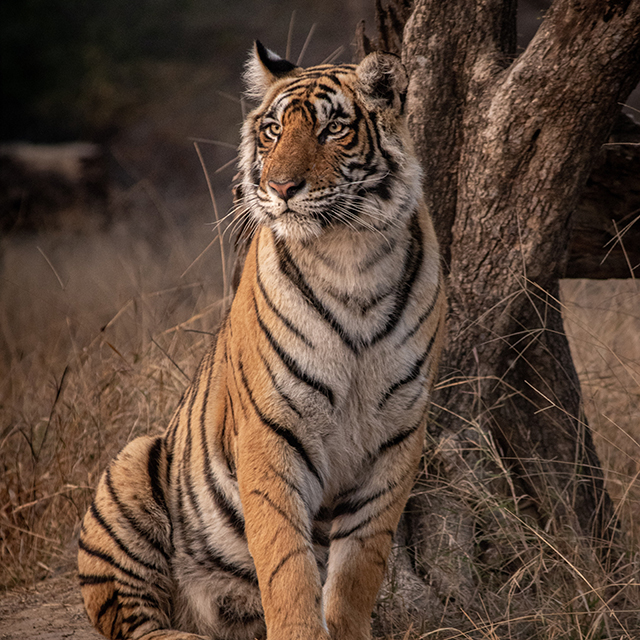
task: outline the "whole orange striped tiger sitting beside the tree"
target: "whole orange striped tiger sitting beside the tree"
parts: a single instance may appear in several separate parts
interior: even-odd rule
[[[362,640],[420,460],[444,294],[399,60],[293,65],[256,43],[252,229],[215,348],[82,526],[108,638]]]

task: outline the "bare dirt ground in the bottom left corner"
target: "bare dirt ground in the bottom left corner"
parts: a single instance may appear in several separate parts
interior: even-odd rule
[[[0,640],[98,640],[84,611],[75,574],[0,596]]]

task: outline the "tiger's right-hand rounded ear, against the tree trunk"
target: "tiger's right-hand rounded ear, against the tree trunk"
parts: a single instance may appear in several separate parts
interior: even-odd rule
[[[356,68],[359,91],[365,104],[375,110],[404,110],[409,79],[398,56],[374,51]]]

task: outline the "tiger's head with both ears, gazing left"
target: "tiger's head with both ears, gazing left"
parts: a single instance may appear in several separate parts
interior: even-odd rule
[[[246,82],[261,100],[240,146],[252,224],[307,242],[336,227],[384,232],[411,215],[421,178],[397,57],[304,69],[256,42]]]

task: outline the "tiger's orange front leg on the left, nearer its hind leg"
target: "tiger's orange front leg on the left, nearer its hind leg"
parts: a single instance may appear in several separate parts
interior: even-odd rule
[[[328,640],[305,504],[314,488],[319,495],[319,478],[280,435],[262,423],[254,428],[262,437],[252,428],[240,430],[238,484],[267,638]]]

